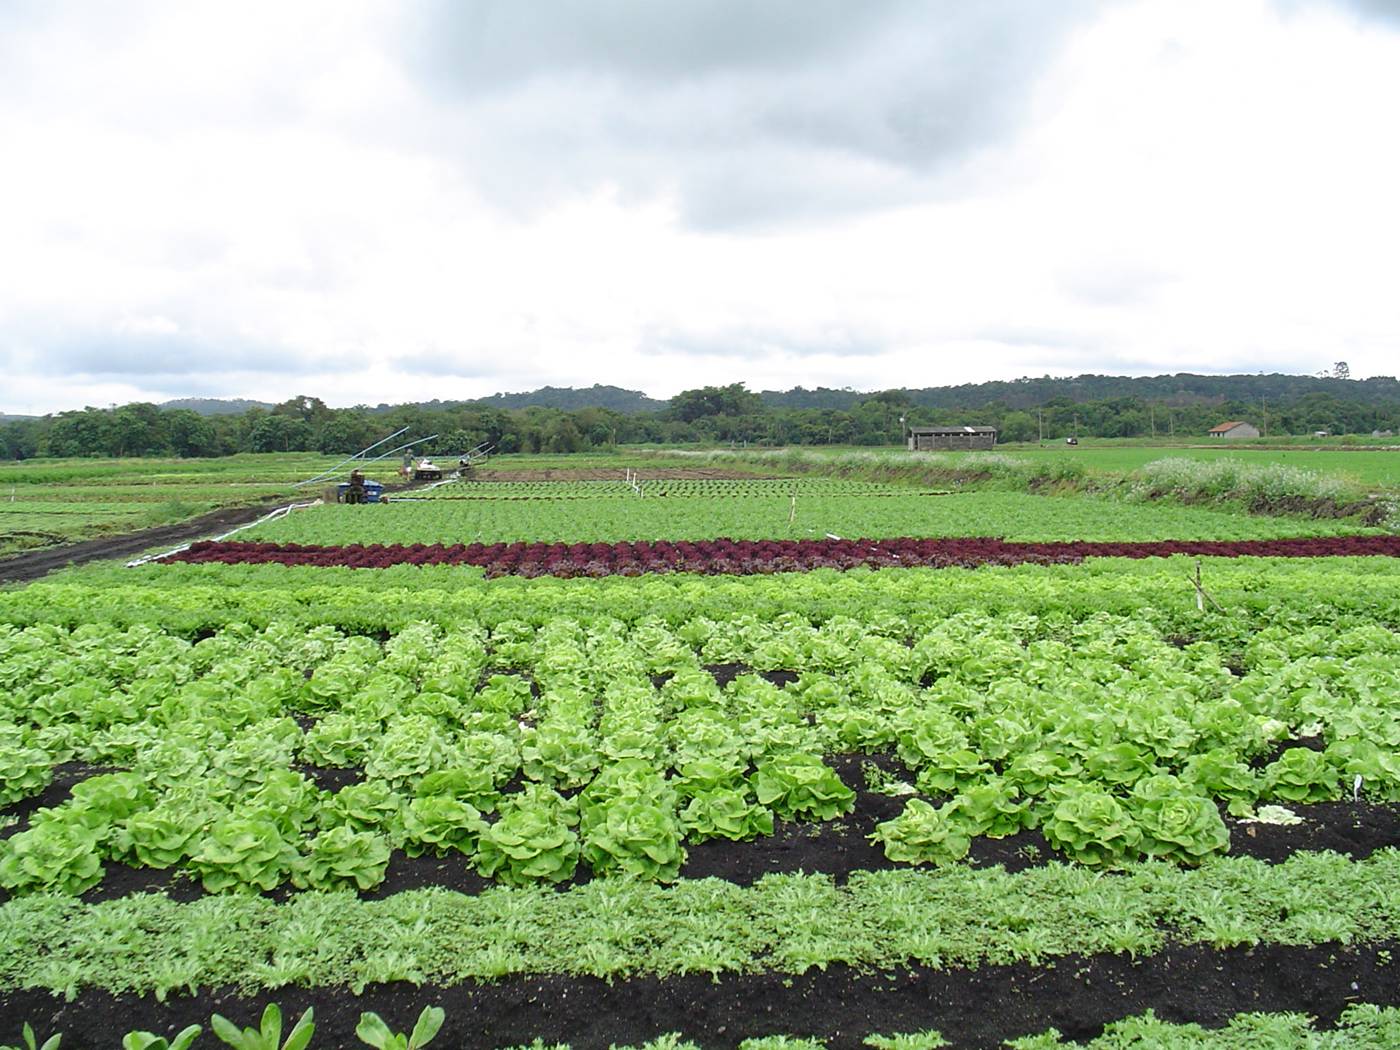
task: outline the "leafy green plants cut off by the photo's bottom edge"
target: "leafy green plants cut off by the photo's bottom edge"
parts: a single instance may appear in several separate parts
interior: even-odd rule
[[[424,1008],[417,1023],[410,1030],[395,1032],[378,1014],[361,1014],[356,1035],[374,1050],[421,1050],[445,1021],[440,1008]],[[270,1004],[263,1011],[259,1025],[239,1028],[235,1022],[216,1014],[210,1019],[213,1035],[235,1050],[307,1050],[315,1044],[315,1011],[307,1009],[281,1039],[281,1011]],[[28,1025],[22,1029],[24,1050],[36,1050],[39,1036]],[[188,1050],[202,1035],[202,1028],[190,1025],[174,1039],[155,1036],[150,1032],[130,1032],[122,1039],[125,1050]],[[938,1050],[949,1046],[937,1030],[897,1032],[892,1035],[869,1035],[862,1046],[874,1050]],[[1060,1032],[1047,1032],[1008,1039],[1002,1043],[1008,1050],[1392,1050],[1400,1044],[1400,1009],[1372,1004],[1348,1005],[1337,1019],[1336,1028],[1319,1030],[1313,1018],[1306,1014],[1238,1014],[1224,1028],[1203,1028],[1197,1023],[1175,1023],[1159,1019],[1152,1011],[1138,1016],[1114,1021],[1105,1026],[1103,1035],[1077,1043],[1061,1037]],[[43,1050],[59,1050],[62,1035],[56,1033],[42,1043]],[[752,1036],[739,1040],[739,1050],[826,1050],[826,1042],[812,1036]],[[21,1050],[21,1046],[0,1046],[0,1050]],[[571,1050],[567,1043],[518,1044],[510,1050]],[[638,1046],[612,1044],[610,1050],[700,1050],[679,1032],[671,1032],[657,1039],[648,1039]]]

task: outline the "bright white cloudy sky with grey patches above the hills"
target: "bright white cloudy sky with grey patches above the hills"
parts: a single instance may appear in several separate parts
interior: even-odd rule
[[[1400,0],[0,0],[0,412],[1400,371]]]

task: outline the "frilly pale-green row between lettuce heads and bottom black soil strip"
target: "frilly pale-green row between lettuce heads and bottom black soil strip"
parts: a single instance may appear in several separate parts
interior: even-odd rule
[[[452,986],[508,974],[804,973],[844,963],[976,967],[1166,945],[1375,944],[1400,923],[1400,853],[1221,857],[1105,875],[1050,864],[767,875],[750,886],[596,879],[567,890],[444,889],[0,904],[0,988],[167,995],[231,987]]]

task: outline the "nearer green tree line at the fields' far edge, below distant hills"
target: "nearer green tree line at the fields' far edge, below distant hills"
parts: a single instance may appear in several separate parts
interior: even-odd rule
[[[921,405],[914,393],[860,395],[847,407],[783,407],[743,384],[731,384],[685,391],[664,409],[640,413],[596,406],[501,409],[475,402],[332,409],[318,398],[297,396],[272,409],[200,416],[134,403],[6,423],[0,426],[0,455],[349,455],[399,427],[407,427],[413,437],[437,434],[417,447],[437,456],[458,456],[483,442],[501,452],[584,452],[619,444],[895,445],[909,427],[941,424],[993,426],[1004,442],[1071,435],[1204,438],[1225,420],[1246,420],[1270,435],[1400,431],[1400,398],[1358,400],[1350,389],[1348,396],[1310,389],[1277,399],[1212,400],[1075,399],[1060,393],[1035,405],[990,400],[976,406]]]

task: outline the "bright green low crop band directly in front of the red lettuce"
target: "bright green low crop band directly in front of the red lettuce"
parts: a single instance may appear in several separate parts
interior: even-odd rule
[[[501,578],[448,566],[374,570],[286,566],[148,564],[87,568],[22,589],[0,591],[0,622],[11,624],[153,623],[196,634],[225,623],[274,620],[356,631],[396,630],[430,620],[543,624],[556,616],[679,624],[735,612],[757,619],[799,613],[914,630],[963,609],[1082,619],[1135,615],[1163,633],[1226,641],[1270,623],[1378,622],[1400,626],[1400,559],[1204,559],[1203,599],[1186,557],[1091,559],[1081,566],[976,570],[816,570],[780,577],[652,575],[603,580]],[[1219,609],[1217,609],[1217,605]]]

